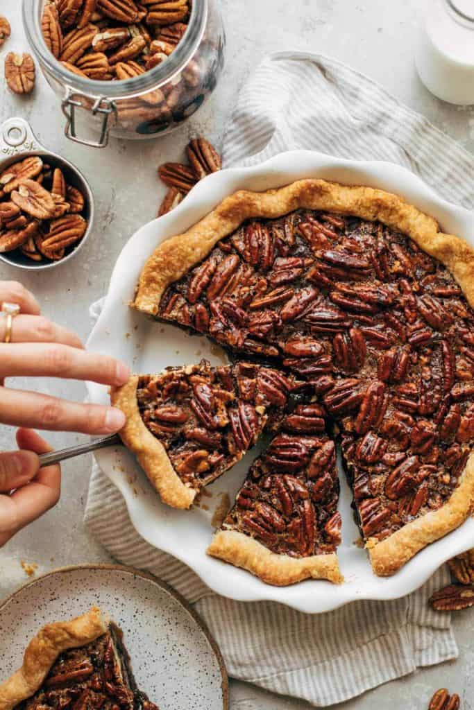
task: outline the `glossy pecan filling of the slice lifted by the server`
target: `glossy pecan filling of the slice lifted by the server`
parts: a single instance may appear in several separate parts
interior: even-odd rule
[[[141,376],[141,418],[184,484],[201,488],[230,469],[281,419],[295,378],[253,363],[168,368]]]

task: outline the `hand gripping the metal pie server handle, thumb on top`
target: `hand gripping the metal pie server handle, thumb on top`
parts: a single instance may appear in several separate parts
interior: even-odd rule
[[[0,547],[53,508],[61,491],[60,466],[39,468],[47,442],[31,429],[18,429],[16,442],[19,451],[0,453]]]

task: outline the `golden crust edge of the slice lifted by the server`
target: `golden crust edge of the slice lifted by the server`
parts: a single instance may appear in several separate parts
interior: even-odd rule
[[[153,488],[160,494],[163,503],[172,508],[189,508],[196,495],[188,488],[173,469],[166,449],[146,428],[141,419],[136,401],[138,376],[132,376],[122,387],[112,389],[110,400],[122,410],[126,424],[119,432],[125,446],[136,455]]]

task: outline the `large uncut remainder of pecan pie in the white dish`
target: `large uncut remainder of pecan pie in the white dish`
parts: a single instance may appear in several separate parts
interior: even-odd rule
[[[340,430],[377,574],[474,500],[474,251],[401,197],[237,192],[141,273],[134,306],[311,384]]]

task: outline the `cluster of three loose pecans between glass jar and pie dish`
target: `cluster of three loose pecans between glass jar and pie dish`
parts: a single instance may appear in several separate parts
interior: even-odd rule
[[[190,165],[163,163],[158,168],[158,175],[169,187],[158,210],[158,217],[176,207],[196,182],[210,173],[217,173],[222,167],[219,153],[205,138],[193,138],[186,146],[186,153]]]

